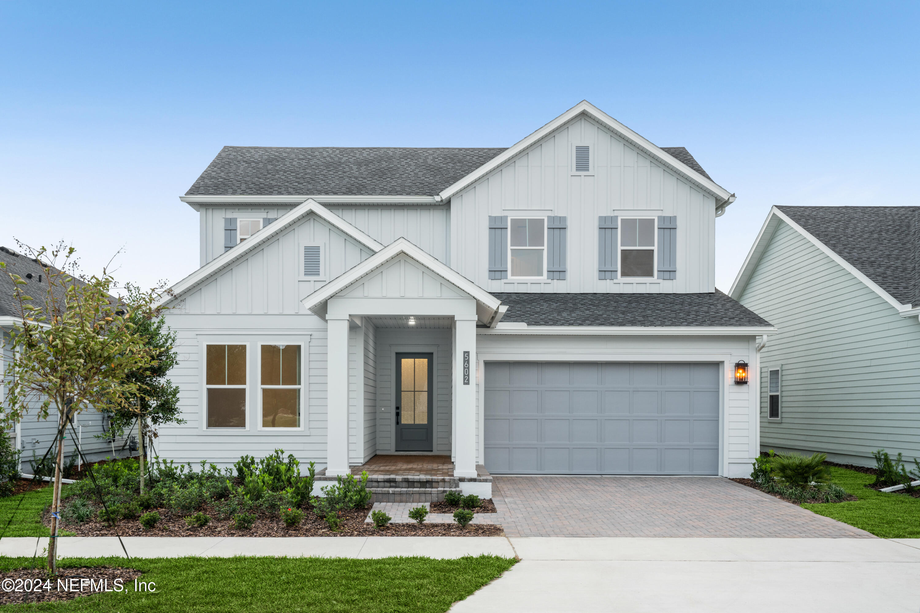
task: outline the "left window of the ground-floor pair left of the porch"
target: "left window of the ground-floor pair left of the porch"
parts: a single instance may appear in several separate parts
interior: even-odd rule
[[[246,428],[246,345],[205,345],[207,427]]]

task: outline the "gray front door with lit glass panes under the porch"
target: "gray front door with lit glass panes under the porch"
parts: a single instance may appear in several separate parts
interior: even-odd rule
[[[397,353],[396,451],[433,451],[431,353]]]

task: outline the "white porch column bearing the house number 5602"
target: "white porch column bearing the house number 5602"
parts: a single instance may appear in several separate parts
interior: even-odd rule
[[[476,316],[454,327],[454,477],[476,477]]]

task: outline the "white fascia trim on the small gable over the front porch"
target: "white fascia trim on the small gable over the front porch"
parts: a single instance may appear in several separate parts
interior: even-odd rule
[[[445,266],[441,261],[431,257],[431,255],[413,245],[406,238],[397,238],[397,240],[387,245],[384,249],[380,249],[367,260],[351,268],[351,270],[343,272],[329,283],[320,287],[313,294],[306,296],[300,302],[304,307],[319,315],[320,312],[324,310],[323,307],[329,298],[339,294],[339,292],[352,283],[357,283],[369,272],[374,271],[388,260],[392,260],[400,254],[406,254],[412,260],[416,260],[422,266],[431,270],[431,272],[441,276],[445,281],[454,283],[457,288],[476,298],[477,302],[487,307],[489,311],[494,313],[494,311],[499,308],[501,301],[498,298],[489,294],[489,292],[482,289],[459,272],[454,271],[454,269]]]

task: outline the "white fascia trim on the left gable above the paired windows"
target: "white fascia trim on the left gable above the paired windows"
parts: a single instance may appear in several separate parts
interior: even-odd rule
[[[350,223],[339,217],[339,215],[332,213],[328,210],[328,208],[319,202],[314,200],[307,200],[306,202],[295,206],[293,209],[283,214],[268,226],[261,228],[259,232],[252,235],[252,237],[247,238],[245,242],[238,243],[233,249],[224,251],[224,253],[209,261],[200,269],[192,272],[185,279],[179,281],[167,289],[166,293],[156,302],[156,306],[161,307],[168,301],[174,300],[185,294],[192,287],[195,287],[198,283],[201,283],[201,281],[204,279],[207,279],[215,272],[219,272],[226,268],[236,260],[239,260],[245,256],[247,253],[251,253],[256,249],[259,249],[259,247],[270,240],[271,237],[275,237],[276,235],[280,234],[287,226],[290,226],[293,222],[311,213],[316,214],[316,216],[322,218],[323,221],[327,222],[330,226],[338,228],[349,237],[354,238],[358,242],[362,243],[362,245],[374,252],[377,252],[380,249],[384,249],[384,245],[382,243],[374,240],[374,238],[368,236],[357,227],[352,226]]]

